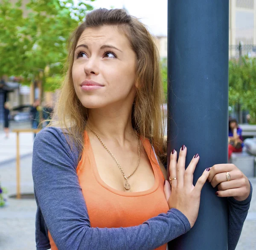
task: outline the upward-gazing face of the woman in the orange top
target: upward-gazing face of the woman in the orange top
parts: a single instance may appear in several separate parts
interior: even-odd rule
[[[102,108],[134,101],[136,54],[116,26],[87,28],[75,50],[73,83],[82,105]]]

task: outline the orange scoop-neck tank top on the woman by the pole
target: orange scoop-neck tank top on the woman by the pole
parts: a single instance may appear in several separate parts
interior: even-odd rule
[[[84,150],[76,172],[86,201],[91,227],[132,227],[169,210],[163,186],[164,176],[148,139],[142,140],[154,171],[155,183],[143,192],[125,192],[111,188],[99,176],[93,149],[84,132]],[[102,206],[104,204],[104,206]],[[58,250],[48,231],[51,250]],[[157,250],[166,250],[167,244]]]

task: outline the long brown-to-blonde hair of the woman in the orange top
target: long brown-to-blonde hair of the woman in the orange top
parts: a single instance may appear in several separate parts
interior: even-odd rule
[[[164,102],[163,85],[160,74],[160,58],[154,38],[136,17],[123,9],[96,9],[86,15],[84,23],[73,32],[69,40],[69,54],[66,76],[61,86],[56,112],[49,126],[59,126],[69,134],[70,143],[83,147],[83,132],[88,119],[88,109],[78,97],[73,85],[72,66],[77,42],[84,29],[103,25],[118,26],[128,38],[137,55],[135,69],[138,83],[132,110],[132,125],[140,136],[148,138],[156,153],[166,157],[164,143]],[[54,122],[57,120],[57,123]]]

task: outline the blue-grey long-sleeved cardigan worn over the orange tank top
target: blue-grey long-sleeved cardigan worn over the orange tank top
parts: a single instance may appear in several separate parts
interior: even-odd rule
[[[170,209],[136,227],[92,228],[76,167],[79,150],[70,149],[60,128],[45,128],[35,137],[32,175],[35,189],[36,249],[50,249],[48,230],[58,250],[149,250],[188,232],[182,212]],[[250,206],[228,198],[228,249],[234,250]]]

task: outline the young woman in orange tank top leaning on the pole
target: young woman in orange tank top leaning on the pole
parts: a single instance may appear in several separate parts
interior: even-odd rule
[[[200,157],[185,170],[183,145],[170,156],[171,189],[160,161],[162,103],[159,58],[145,26],[122,9],[90,12],[71,36],[58,124],[35,138],[38,250],[166,250],[195,224],[207,179],[218,196],[230,197],[235,249],[250,182],[236,166],[218,164],[193,186]]]

